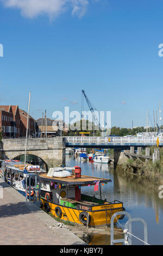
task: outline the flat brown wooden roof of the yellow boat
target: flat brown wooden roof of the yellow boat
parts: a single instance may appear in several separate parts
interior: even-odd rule
[[[110,179],[103,179],[97,178],[92,176],[81,175],[81,178],[76,179],[74,175],[65,177],[65,178],[58,178],[58,177],[48,177],[47,174],[40,175],[41,180],[61,183],[65,185],[95,185],[97,181],[99,183],[108,183],[111,182]]]

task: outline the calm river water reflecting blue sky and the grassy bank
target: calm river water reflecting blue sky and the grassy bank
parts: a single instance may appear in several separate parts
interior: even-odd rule
[[[124,172],[120,167],[115,170],[110,164],[80,161],[73,155],[66,155],[66,166],[80,166],[84,175],[111,179],[112,182],[101,186],[102,199],[122,201],[131,218],[139,217],[146,221],[148,243],[163,245],[163,198],[160,199],[158,196],[159,186],[147,179]],[[92,186],[83,187],[82,193],[100,198],[99,192],[94,192]],[[124,226],[127,220],[127,217],[124,217],[117,227]],[[133,223],[132,233],[143,240],[143,224]],[[92,240],[94,245],[109,245],[110,236],[97,235]],[[132,244],[142,245],[142,242],[133,238]]]

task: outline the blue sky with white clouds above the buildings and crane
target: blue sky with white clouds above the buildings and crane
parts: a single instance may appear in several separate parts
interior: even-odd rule
[[[81,112],[83,89],[111,126],[146,126],[147,109],[154,125],[162,11],[163,0],[0,0],[0,105],[27,111],[31,92],[30,114],[52,118]]]

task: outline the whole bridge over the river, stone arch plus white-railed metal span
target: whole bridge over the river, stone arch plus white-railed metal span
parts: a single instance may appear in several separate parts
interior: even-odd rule
[[[55,167],[65,165],[66,147],[115,149],[116,160],[121,159],[121,150],[131,149],[130,154],[134,154],[134,148],[140,150],[140,148],[146,148],[147,146],[156,146],[156,141],[157,137],[28,138],[27,154],[40,157],[48,167]],[[2,139],[0,144],[0,158],[14,159],[15,157],[24,155],[25,145],[26,138]],[[163,146],[163,137],[159,138],[159,146]]]

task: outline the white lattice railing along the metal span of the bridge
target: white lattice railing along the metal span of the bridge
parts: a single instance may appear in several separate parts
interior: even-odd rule
[[[67,143],[155,144],[158,137],[65,137]],[[163,137],[159,137],[159,144]]]

